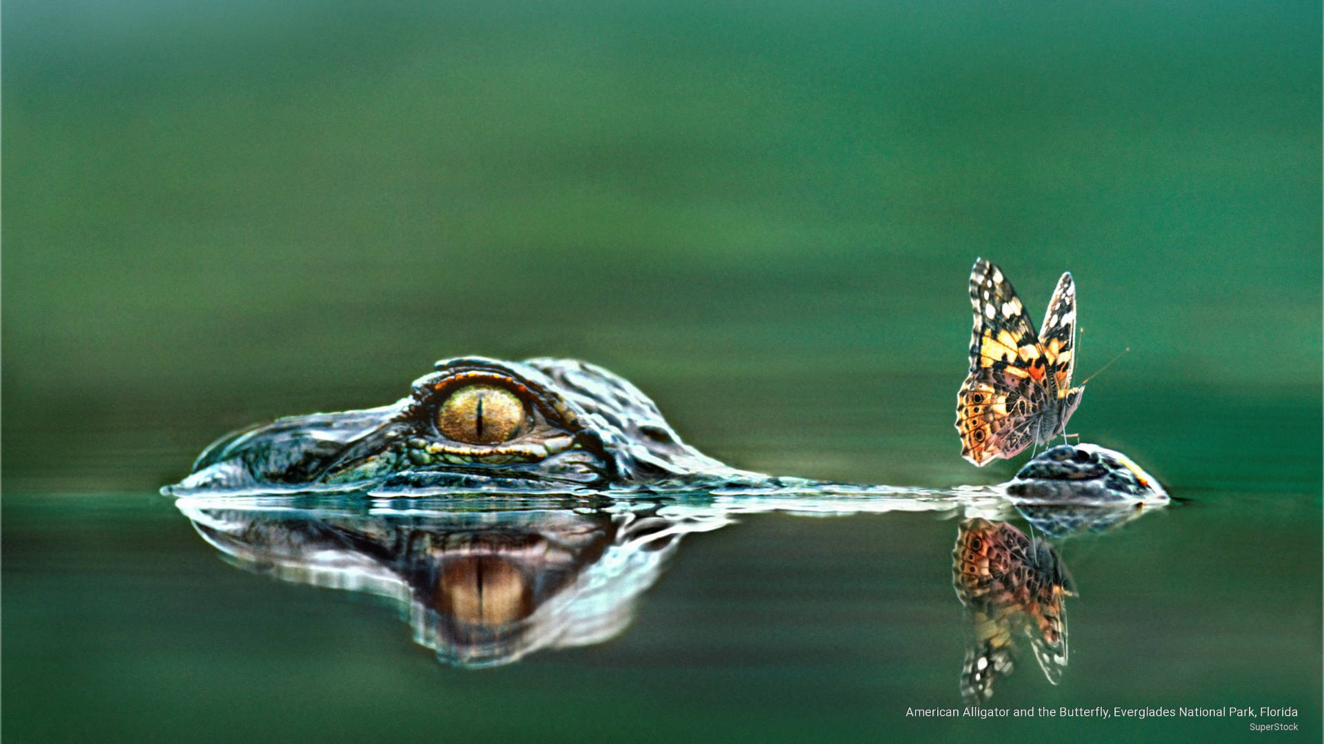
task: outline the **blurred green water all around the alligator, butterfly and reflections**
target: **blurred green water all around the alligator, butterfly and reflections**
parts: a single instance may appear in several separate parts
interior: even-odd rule
[[[7,741],[1317,740],[1313,3],[4,8]],[[731,465],[928,487],[967,277],[1079,293],[1071,428],[1189,499],[1062,545],[1053,687],[960,706],[956,524],[686,536],[612,641],[437,663],[392,606],[221,560],[156,488],[434,359],[608,367]],[[1276,719],[1275,719],[1276,720]]]

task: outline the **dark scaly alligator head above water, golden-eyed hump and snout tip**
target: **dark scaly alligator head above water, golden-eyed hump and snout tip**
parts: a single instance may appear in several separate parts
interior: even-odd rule
[[[169,495],[326,492],[661,494],[715,488],[879,495],[902,490],[763,475],[686,445],[638,388],[576,360],[438,361],[409,397],[294,416],[212,443]],[[1119,453],[1061,445],[1006,485],[1022,502],[1162,503]]]

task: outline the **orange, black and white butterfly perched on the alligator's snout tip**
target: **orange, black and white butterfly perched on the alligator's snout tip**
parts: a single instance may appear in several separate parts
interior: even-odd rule
[[[1075,283],[1062,274],[1043,327],[1034,326],[1002,270],[980,258],[970,269],[974,335],[970,373],[956,397],[961,457],[984,465],[1062,434],[1084,388],[1075,367]]]

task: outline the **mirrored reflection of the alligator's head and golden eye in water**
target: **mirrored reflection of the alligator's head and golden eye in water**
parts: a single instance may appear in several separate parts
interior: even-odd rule
[[[216,502],[179,506],[240,565],[388,597],[418,643],[469,667],[616,635],[677,535],[671,523],[632,510],[369,512]]]

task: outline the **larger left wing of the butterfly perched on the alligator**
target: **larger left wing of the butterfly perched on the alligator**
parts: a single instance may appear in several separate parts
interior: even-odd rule
[[[1025,306],[1002,270],[982,258],[970,269],[970,372],[957,393],[956,430],[961,457],[982,466],[1035,441],[1051,396],[1047,360]]]

